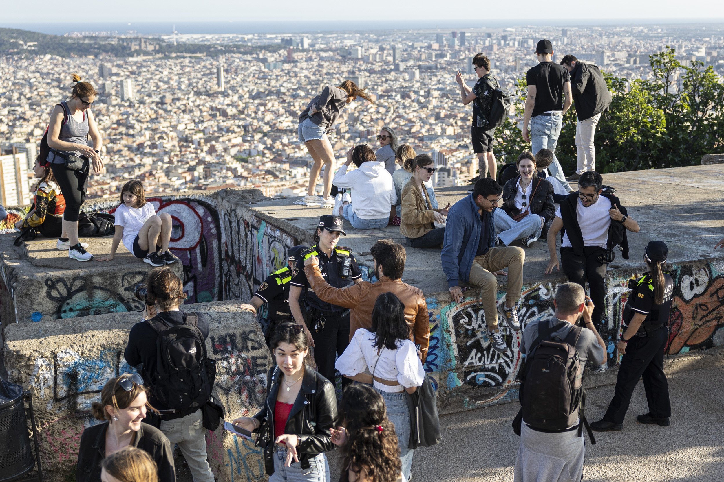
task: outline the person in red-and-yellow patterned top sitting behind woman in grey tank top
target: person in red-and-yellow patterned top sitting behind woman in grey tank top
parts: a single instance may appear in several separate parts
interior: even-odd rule
[[[58,238],[57,247],[61,251],[70,248],[67,234],[63,229],[63,212],[65,211],[65,199],[60,187],[55,181],[50,164],[41,165],[39,159],[35,159],[33,173],[40,178],[33,189],[33,207],[25,219],[15,223],[15,227],[21,231],[25,228],[36,228],[41,236],[46,238]],[[83,248],[88,244],[81,243]]]

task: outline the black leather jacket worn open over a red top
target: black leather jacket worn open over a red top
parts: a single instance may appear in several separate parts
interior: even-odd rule
[[[278,366],[266,376],[266,400],[256,418],[261,425],[256,430],[256,445],[264,447],[266,475],[274,473],[274,405],[277,403],[279,384],[284,375]],[[302,387],[287,418],[285,434],[299,437],[297,452],[300,466],[310,467],[309,457],[334,449],[332,432],[337,422],[337,394],[334,385],[308,366],[304,367]]]

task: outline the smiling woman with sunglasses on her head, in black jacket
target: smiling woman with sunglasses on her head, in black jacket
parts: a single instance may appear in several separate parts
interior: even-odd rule
[[[101,390],[101,401],[93,402],[91,413],[101,420],[80,436],[77,482],[100,482],[101,462],[126,447],[142,449],[150,455],[159,471],[159,482],[175,482],[174,457],[169,439],[156,427],[143,423],[148,404],[143,378],[122,374],[111,378]]]

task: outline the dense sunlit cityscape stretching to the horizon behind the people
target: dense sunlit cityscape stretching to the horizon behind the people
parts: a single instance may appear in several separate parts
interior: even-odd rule
[[[455,72],[473,85],[475,53],[490,57],[492,74],[511,91],[536,63],[540,38],[552,40],[554,61],[573,53],[629,80],[650,77],[648,56],[665,46],[675,48],[682,64],[702,61],[721,75],[723,33],[697,25],[152,38],[84,32],[68,35],[103,35],[130,46],[134,56],[72,58],[35,55],[31,42],[19,40],[0,59],[0,154],[28,152],[20,176],[32,176],[35,146],[52,106],[70,95],[76,72],[100,92],[93,113],[104,137],[106,171],[90,178],[90,198],[116,197],[129,178],[142,179],[149,193],[242,186],[272,197],[300,196],[311,157],[297,139],[298,115],[324,85],[352,79],[376,101],[358,100],[342,111],[331,138],[337,165],[353,145],[379,147],[375,135],[387,125],[401,143],[432,153],[440,167],[436,186],[467,184],[477,160],[471,108],[460,102]],[[158,54],[158,41],[208,43],[209,51]],[[228,53],[230,44],[256,46],[256,53]]]

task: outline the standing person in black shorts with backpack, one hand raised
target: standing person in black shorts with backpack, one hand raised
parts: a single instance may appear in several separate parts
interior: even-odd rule
[[[473,57],[473,66],[478,74],[478,82],[471,89],[463,81],[463,74],[455,75],[455,82],[460,86],[460,96],[463,104],[473,103],[473,124],[471,126],[471,137],[473,141],[473,152],[478,156],[479,176],[484,178],[487,173],[495,178],[497,164],[493,154],[493,137],[495,128],[490,127],[487,117],[490,114],[490,103],[493,98],[493,91],[498,87],[495,77],[490,75],[490,59],[482,53]]]

